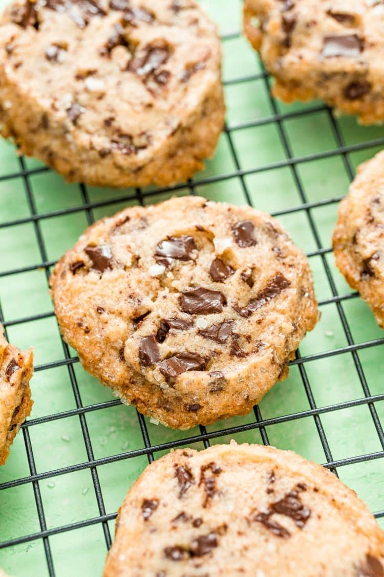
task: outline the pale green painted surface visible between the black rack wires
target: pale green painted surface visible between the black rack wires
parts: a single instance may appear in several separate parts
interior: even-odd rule
[[[0,0],[0,6],[4,4],[4,0]],[[227,2],[206,0],[203,5],[218,22],[223,34],[239,30],[241,5],[237,0]],[[224,56],[225,80],[232,81],[262,71],[256,55],[244,38],[226,39]],[[241,128],[231,131],[231,140],[239,166],[246,170],[253,170],[260,169],[266,164],[284,162],[286,151],[280,138],[277,123],[265,123],[251,128],[244,127],[246,123],[258,123],[263,118],[273,114],[264,79],[227,84],[226,99],[228,126],[234,128],[241,125]],[[277,102],[277,110],[280,113],[310,110],[313,106],[313,103],[305,105],[295,103],[287,106]],[[337,119],[337,123],[347,145],[359,145],[384,136],[383,128],[358,126],[354,118],[342,117]],[[302,117],[285,119],[282,122],[282,128],[287,134],[291,151],[296,156],[307,156],[311,153],[321,154],[337,149],[332,122],[326,111],[317,111]],[[350,153],[347,158],[355,168],[376,151],[377,147],[363,149]],[[223,134],[215,158],[207,163],[207,167],[202,173],[196,175],[196,180],[206,176],[230,174],[236,168],[235,162],[229,137],[227,134]],[[29,168],[41,166],[39,162],[33,159],[26,160],[26,164]],[[1,141],[0,175],[18,173],[19,170],[20,163],[14,148],[12,145]],[[348,188],[348,174],[345,170],[344,160],[339,154],[326,159],[299,163],[297,175],[306,200],[309,202],[316,203],[337,197],[344,194]],[[29,184],[38,213],[61,211],[66,208],[77,207],[82,203],[78,186],[64,183],[59,175],[52,172],[32,175],[29,178]],[[269,170],[258,170],[245,176],[244,185],[254,206],[268,212],[279,213],[288,208],[297,207],[302,202],[290,167],[271,167]],[[216,183],[197,184],[196,192],[212,200],[227,200],[234,204],[243,204],[246,201],[243,183],[237,176]],[[186,193],[188,193],[187,186],[185,189],[177,191],[177,194]],[[119,204],[111,202],[108,204],[108,201],[119,199],[125,195],[134,197],[133,190],[116,191],[89,188],[88,194],[90,201],[106,203],[92,211],[92,216],[95,219],[111,215],[124,205],[135,202],[127,201]],[[153,194],[153,196],[145,199],[145,203],[165,200],[169,196],[171,193]],[[323,248],[330,246],[330,235],[336,220],[336,213],[337,203],[311,209],[311,216]],[[0,181],[0,223],[25,218],[30,214],[23,179],[16,177]],[[305,211],[283,215],[280,220],[291,233],[295,242],[305,252],[312,252],[317,249]],[[86,224],[87,214],[85,211],[64,216],[52,216],[41,220],[39,227],[47,258],[54,260],[64,250],[70,248]],[[0,244],[3,247],[0,257],[0,271],[41,262],[36,231],[31,223],[0,228]],[[5,247],[6,250],[4,250]],[[311,257],[310,263],[314,273],[318,299],[323,300],[331,297],[332,291],[321,257]],[[326,255],[326,263],[339,294],[350,293],[349,287],[334,267],[332,254]],[[0,277],[0,299],[6,321],[52,311],[47,292],[47,279],[41,269]],[[382,338],[383,332],[377,327],[370,310],[360,299],[353,298],[343,301],[341,307],[351,328],[352,338],[356,343]],[[336,304],[326,304],[321,307],[321,310],[321,321],[303,341],[300,347],[301,355],[322,353],[347,344]],[[33,344],[36,365],[63,358],[63,347],[54,317],[12,325],[9,327],[8,334],[9,338],[21,347],[28,347],[29,344]],[[379,346],[358,352],[358,358],[362,364],[371,394],[384,392],[383,351],[384,347]],[[71,351],[71,354],[74,354],[74,351]],[[311,385],[314,402],[318,407],[326,407],[334,403],[344,403],[363,397],[362,384],[351,353],[307,362],[305,373]],[[79,364],[74,365],[74,374],[84,406],[113,398],[109,389],[101,387]],[[36,372],[32,381],[32,389],[35,400],[32,418],[51,415],[76,407],[69,369],[66,366]],[[381,419],[381,424],[384,425],[384,402],[375,403],[375,408],[379,419]],[[298,366],[292,367],[288,379],[277,384],[260,404],[264,419],[273,419],[309,409],[309,400]],[[144,446],[138,417],[132,407],[113,406],[104,410],[92,411],[86,414],[85,420],[94,457],[97,459]],[[251,424],[254,421],[255,415],[252,412],[246,417],[216,423],[207,427],[207,430],[209,432],[220,431],[227,426],[235,427]],[[150,424],[148,419],[146,422],[150,442],[153,445],[183,440],[199,433],[198,429],[178,432]],[[320,417],[320,422],[335,460],[353,458],[382,449],[370,411],[366,405],[324,413]],[[326,460],[314,418],[311,416],[268,425],[266,432],[269,441],[277,447],[294,449],[319,463],[324,463]],[[87,460],[85,442],[77,416],[31,426],[29,427],[29,435],[35,455],[37,473],[60,469]],[[212,443],[227,443],[231,438],[238,442],[262,442],[259,430],[254,429],[249,432],[230,435],[223,433],[222,436],[212,440]],[[203,443],[200,442],[192,446],[201,449]],[[155,458],[159,458],[162,454],[164,452],[157,452]],[[147,458],[145,456],[136,456],[116,463],[104,464],[97,468],[107,513],[117,510],[127,489],[146,464]],[[384,509],[383,458],[365,463],[348,464],[339,467],[338,473],[344,482],[367,501],[372,511]],[[22,434],[19,434],[6,466],[0,469],[0,484],[28,475],[29,467],[25,443]],[[99,514],[89,469],[43,479],[39,482],[39,486],[48,529],[89,519]],[[113,521],[109,523],[112,535],[113,524]],[[0,492],[0,542],[35,533],[39,530],[39,519],[32,485],[28,483],[16,488],[2,490]],[[101,575],[107,549],[100,524],[54,535],[50,537],[49,542],[55,572],[59,577]],[[48,575],[43,542],[41,539],[37,539],[7,549],[0,549],[0,566],[16,577],[21,575],[44,577]]]

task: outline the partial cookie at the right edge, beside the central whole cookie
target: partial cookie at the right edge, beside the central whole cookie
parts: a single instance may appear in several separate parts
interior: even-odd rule
[[[360,165],[333,233],[337,267],[384,328],[384,151]]]

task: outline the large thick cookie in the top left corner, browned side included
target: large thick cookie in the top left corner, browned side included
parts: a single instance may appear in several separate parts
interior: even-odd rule
[[[220,66],[193,0],[16,0],[0,19],[2,134],[68,181],[183,181],[223,128]]]

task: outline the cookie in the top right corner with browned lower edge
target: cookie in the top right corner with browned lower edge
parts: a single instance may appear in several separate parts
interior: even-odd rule
[[[245,0],[244,29],[284,102],[321,98],[384,120],[384,6],[368,0]]]

